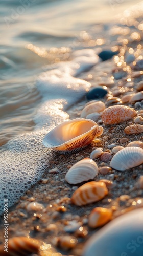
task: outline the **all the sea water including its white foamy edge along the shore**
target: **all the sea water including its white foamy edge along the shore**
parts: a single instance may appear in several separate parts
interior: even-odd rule
[[[0,1],[0,213],[40,179],[52,153],[44,135],[69,120],[90,82],[82,72],[110,49],[109,31],[141,1]],[[105,43],[106,42],[106,43]],[[80,76],[80,78],[78,78]],[[47,157],[48,156],[48,157]]]

